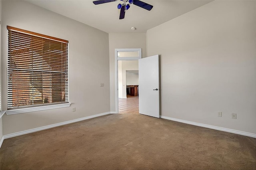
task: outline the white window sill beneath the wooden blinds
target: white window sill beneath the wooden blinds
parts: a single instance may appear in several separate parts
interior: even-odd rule
[[[14,115],[19,113],[27,113],[27,112],[35,112],[35,111],[44,111],[48,109],[58,109],[62,107],[70,107],[71,103],[63,103],[56,105],[48,105],[48,106],[38,106],[38,107],[30,107],[30,108],[22,108],[22,109],[13,109],[5,111],[6,115]]]

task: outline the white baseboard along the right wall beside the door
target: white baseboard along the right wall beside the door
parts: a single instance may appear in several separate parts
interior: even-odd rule
[[[249,137],[256,138],[256,134],[254,134],[254,133],[242,132],[242,131],[239,131],[239,130],[233,130],[233,129],[222,128],[222,127],[216,127],[216,126],[212,126],[212,125],[205,125],[205,124],[202,124],[202,123],[184,121],[184,120],[181,120],[181,119],[175,119],[175,118],[166,117],[166,116],[160,116],[160,118],[168,119],[168,120],[176,121],[176,122],[181,122],[181,123],[186,123],[186,124],[189,124],[189,125],[195,125],[195,126],[198,126],[198,127],[211,128],[211,129],[214,129],[214,130],[220,130],[220,131],[224,131],[224,132],[241,134],[241,135],[244,135],[244,136],[249,136]]]

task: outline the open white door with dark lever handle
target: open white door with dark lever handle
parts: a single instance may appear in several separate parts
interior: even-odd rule
[[[159,57],[139,59],[139,113],[160,117],[159,111]]]

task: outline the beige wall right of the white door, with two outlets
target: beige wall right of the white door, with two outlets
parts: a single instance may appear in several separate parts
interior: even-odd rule
[[[210,2],[148,30],[146,49],[162,116],[256,134],[256,1]]]

